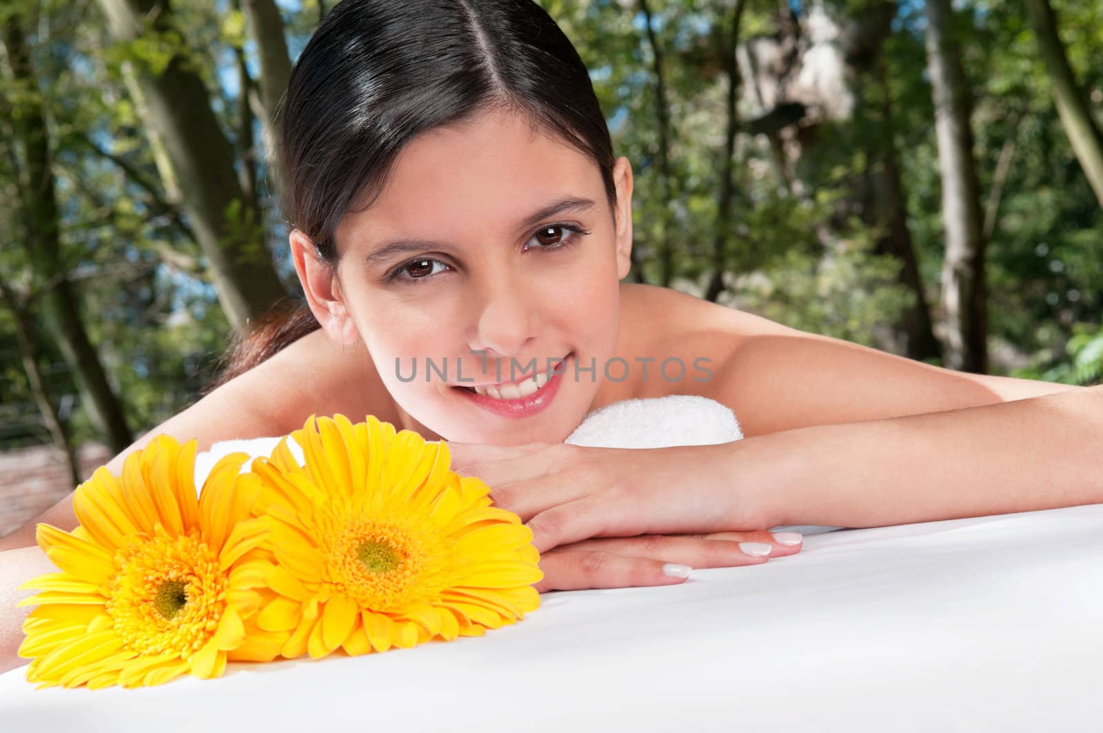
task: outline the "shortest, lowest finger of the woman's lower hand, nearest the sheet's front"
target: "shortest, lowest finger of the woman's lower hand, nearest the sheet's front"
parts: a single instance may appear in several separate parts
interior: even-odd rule
[[[685,582],[693,569],[611,552],[554,551],[540,556],[540,570],[544,580],[533,586],[538,593],[677,585]]]

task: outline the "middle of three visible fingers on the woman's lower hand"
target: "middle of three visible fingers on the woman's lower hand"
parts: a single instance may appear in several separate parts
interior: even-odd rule
[[[770,554],[761,553],[763,546],[771,548],[769,544],[754,542],[644,534],[642,537],[582,540],[561,545],[556,550],[563,552],[577,550],[612,552],[628,557],[650,557],[690,567],[738,567],[761,565],[767,562]]]

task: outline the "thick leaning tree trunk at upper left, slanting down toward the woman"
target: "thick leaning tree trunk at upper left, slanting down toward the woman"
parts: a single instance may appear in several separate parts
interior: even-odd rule
[[[141,36],[150,17],[158,31],[172,31],[168,0],[100,0],[100,6],[120,41]],[[242,329],[286,291],[256,212],[238,183],[233,148],[218,127],[203,81],[180,54],[157,73],[144,64],[132,66],[146,121],[164,144],[218,301],[231,323]]]

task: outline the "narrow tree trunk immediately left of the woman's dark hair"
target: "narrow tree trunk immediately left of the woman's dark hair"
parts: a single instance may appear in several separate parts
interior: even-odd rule
[[[279,160],[278,141],[282,137],[282,119],[277,114],[280,99],[291,78],[291,57],[283,35],[283,19],[274,0],[242,0],[249,38],[257,44],[260,79],[257,83],[261,107],[268,178],[278,200],[283,194],[283,164]]]

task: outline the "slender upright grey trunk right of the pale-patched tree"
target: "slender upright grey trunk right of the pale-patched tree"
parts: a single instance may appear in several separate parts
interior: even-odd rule
[[[987,370],[987,296],[981,195],[973,158],[972,102],[961,47],[952,35],[950,0],[927,0],[927,61],[934,97],[934,127],[942,169],[945,259],[946,365]]]

